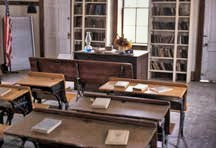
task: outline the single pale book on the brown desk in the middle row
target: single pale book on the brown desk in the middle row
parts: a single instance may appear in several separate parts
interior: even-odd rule
[[[92,108],[107,109],[111,102],[111,98],[96,98],[92,103]]]

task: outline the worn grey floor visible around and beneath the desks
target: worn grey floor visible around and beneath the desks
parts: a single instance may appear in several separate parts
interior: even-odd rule
[[[25,72],[8,74],[3,81],[15,82],[25,76]],[[16,115],[14,123],[23,117]],[[171,113],[171,121],[176,128],[169,136],[168,148],[175,148],[179,113]],[[191,82],[188,92],[188,111],[185,119],[185,140],[181,141],[179,148],[216,148],[216,84]],[[28,147],[33,147],[27,144]],[[5,146],[11,148],[12,146]]]

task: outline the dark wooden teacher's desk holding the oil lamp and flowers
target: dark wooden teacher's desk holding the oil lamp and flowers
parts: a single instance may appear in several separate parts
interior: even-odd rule
[[[74,58],[79,60],[95,60],[131,63],[133,65],[133,74],[135,79],[147,79],[148,75],[148,51],[134,50],[133,55],[129,54],[103,54],[86,53],[84,51],[75,51]]]

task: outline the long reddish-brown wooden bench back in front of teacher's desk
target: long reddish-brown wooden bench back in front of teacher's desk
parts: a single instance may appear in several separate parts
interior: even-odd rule
[[[129,63],[37,57],[30,57],[29,61],[32,71],[64,74],[66,81],[76,82],[79,92],[81,89],[98,91],[98,87],[109,77],[133,78]]]

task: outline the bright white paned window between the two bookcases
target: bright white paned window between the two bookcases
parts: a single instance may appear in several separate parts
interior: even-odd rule
[[[134,44],[148,42],[149,0],[124,0],[123,34]]]

